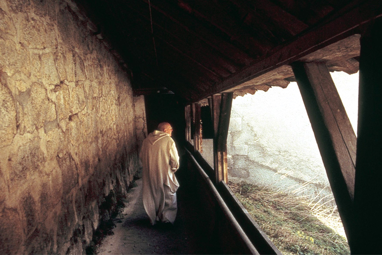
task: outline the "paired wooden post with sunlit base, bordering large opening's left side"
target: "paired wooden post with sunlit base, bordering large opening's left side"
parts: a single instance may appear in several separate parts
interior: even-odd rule
[[[233,93],[213,95],[209,100],[214,126],[215,182],[228,182],[227,136],[230,126]]]

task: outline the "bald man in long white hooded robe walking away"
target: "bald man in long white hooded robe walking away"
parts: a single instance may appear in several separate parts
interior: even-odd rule
[[[143,141],[139,158],[142,162],[143,206],[152,225],[174,223],[179,183],[174,172],[179,168],[179,156],[172,127],[167,122],[158,125]]]

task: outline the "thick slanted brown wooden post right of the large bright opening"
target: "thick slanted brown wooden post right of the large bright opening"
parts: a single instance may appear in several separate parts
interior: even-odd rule
[[[356,137],[326,65],[296,62],[292,67],[350,243]]]

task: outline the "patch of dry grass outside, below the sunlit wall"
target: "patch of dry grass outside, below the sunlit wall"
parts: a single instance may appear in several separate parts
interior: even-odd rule
[[[245,182],[228,186],[283,254],[350,254],[336,208]]]

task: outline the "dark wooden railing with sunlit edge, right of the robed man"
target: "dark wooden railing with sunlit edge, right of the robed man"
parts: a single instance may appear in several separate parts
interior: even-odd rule
[[[189,182],[195,186],[195,196],[205,212],[210,214],[204,224],[211,242],[227,254],[281,254],[225,182],[214,185],[214,170],[192,148],[192,144],[186,144]]]

